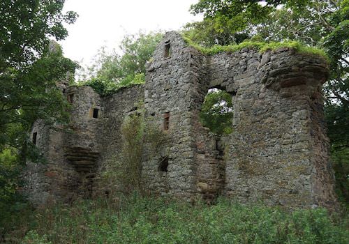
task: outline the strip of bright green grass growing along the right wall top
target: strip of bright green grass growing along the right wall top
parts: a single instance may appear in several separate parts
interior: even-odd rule
[[[195,49],[198,49],[200,52],[207,55],[214,55],[221,52],[237,52],[241,49],[244,49],[245,47],[258,49],[260,53],[264,53],[269,50],[276,50],[281,47],[288,47],[288,48],[295,49],[295,51],[299,53],[314,54],[314,55],[322,56],[326,60],[329,59],[326,52],[323,49],[320,49],[317,47],[309,47],[295,40],[284,41],[284,42],[270,42],[270,43],[253,41],[253,40],[245,40],[244,42],[239,43],[237,45],[227,45],[227,46],[214,45],[213,47],[201,47],[200,45],[193,43],[192,40],[186,38],[185,36],[183,38],[188,45],[195,47]]]

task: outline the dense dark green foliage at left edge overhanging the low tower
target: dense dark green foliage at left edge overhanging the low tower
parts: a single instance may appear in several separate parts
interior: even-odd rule
[[[27,133],[38,119],[47,123],[68,121],[68,102],[56,82],[70,79],[68,74],[74,70],[75,63],[64,58],[57,47],[25,71],[11,69],[13,72],[1,75],[0,150],[13,146],[24,153]]]

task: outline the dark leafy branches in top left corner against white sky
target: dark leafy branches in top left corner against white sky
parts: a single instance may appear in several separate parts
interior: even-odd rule
[[[23,69],[47,52],[50,38],[68,36],[63,23],[77,14],[62,13],[65,0],[3,0],[0,2],[0,73]]]

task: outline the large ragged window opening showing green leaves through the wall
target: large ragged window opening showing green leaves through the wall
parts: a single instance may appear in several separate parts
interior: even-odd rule
[[[200,111],[200,122],[218,135],[232,132],[232,94],[214,88],[209,89]]]

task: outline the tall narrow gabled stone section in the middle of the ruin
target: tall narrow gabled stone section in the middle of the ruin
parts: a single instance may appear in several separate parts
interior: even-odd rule
[[[207,59],[187,47],[177,33],[169,33],[158,45],[153,60],[147,68],[144,88],[145,117],[156,122],[168,142],[158,155],[146,151],[144,175],[152,192],[189,197],[196,192],[198,167],[194,129],[197,118],[193,111],[198,111],[205,98],[198,87],[206,76]],[[164,128],[165,116],[168,130]],[[163,158],[168,158],[167,171],[159,170]]]

